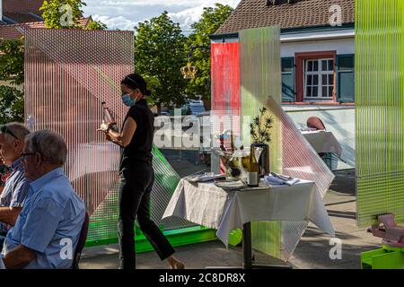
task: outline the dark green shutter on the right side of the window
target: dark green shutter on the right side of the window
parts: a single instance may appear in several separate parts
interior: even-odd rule
[[[355,56],[337,56],[337,101],[355,102]]]

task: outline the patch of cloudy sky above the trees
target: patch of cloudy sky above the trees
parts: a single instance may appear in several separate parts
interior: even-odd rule
[[[111,30],[134,30],[138,22],[159,16],[167,11],[173,22],[180,23],[184,33],[189,33],[190,24],[197,22],[204,7],[215,3],[228,4],[235,8],[241,0],[84,0],[84,16],[107,24]]]

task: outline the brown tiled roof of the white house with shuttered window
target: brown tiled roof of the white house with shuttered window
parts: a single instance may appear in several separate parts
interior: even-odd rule
[[[215,35],[236,33],[239,30],[280,26],[281,28],[303,28],[328,26],[329,8],[338,4],[342,8],[342,23],[355,22],[355,0],[242,0]]]

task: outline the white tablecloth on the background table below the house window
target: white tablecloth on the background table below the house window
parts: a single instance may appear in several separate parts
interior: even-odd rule
[[[342,147],[338,143],[336,137],[329,131],[303,131],[302,134],[306,140],[312,144],[314,151],[320,152],[334,152],[341,157]]]

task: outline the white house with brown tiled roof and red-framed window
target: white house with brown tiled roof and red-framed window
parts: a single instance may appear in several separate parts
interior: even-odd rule
[[[282,102],[297,126],[320,117],[343,147],[333,170],[355,166],[355,0],[242,0],[212,35],[280,26]]]

